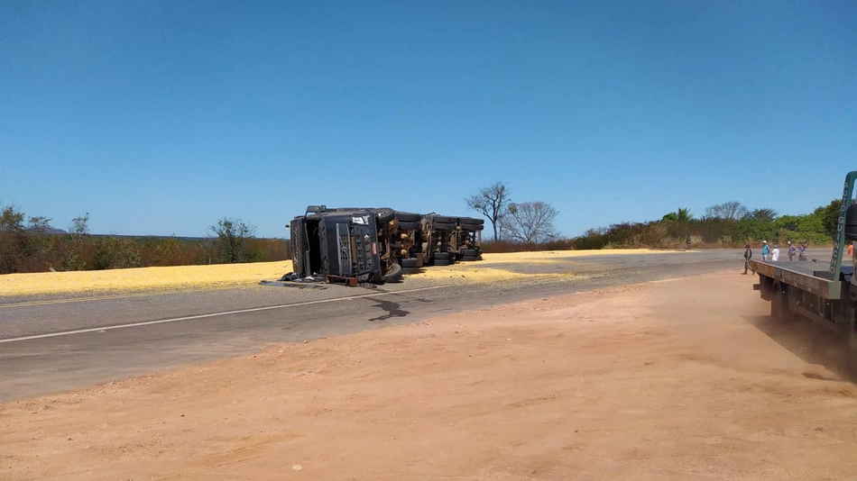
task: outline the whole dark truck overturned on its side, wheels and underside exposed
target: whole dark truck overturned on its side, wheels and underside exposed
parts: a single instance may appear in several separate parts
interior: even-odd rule
[[[470,217],[309,205],[289,227],[294,272],[284,280],[383,284],[419,268],[482,259],[484,221]]]

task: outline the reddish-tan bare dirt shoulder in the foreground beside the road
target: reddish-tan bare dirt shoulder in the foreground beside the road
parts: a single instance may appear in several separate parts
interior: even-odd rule
[[[752,281],[541,299],[0,404],[0,479],[853,478],[839,351],[771,323]]]

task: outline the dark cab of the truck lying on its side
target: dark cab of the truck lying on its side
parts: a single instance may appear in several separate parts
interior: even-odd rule
[[[386,228],[392,218],[388,208],[309,205],[290,222],[295,276],[348,285],[398,280]]]

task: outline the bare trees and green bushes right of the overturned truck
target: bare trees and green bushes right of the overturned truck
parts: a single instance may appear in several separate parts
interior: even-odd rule
[[[517,204],[511,189],[494,182],[464,199],[471,210],[492,224],[493,237],[483,250],[593,250],[593,249],[680,249],[690,241],[696,248],[739,248],[746,243],[785,244],[788,241],[828,245],[833,242],[842,201],[817,207],[812,213],[780,215],[769,207],[751,209],[738,201],[705,208],[696,217],[687,208],[665,213],[648,222],[622,222],[564,237],[554,221],[558,211],[540,201]]]

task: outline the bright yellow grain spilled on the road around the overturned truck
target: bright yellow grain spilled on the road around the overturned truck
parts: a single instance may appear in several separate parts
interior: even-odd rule
[[[549,252],[511,252],[485,254],[480,262],[459,263],[448,268],[426,268],[413,276],[493,282],[525,276],[493,265],[510,262],[554,262],[568,257],[644,254],[660,250],[555,250]],[[97,271],[38,272],[0,276],[0,297],[16,295],[98,294],[128,291],[175,291],[198,288],[234,287],[274,280],[291,272],[291,261],[176,266],[168,268],[128,268]]]

